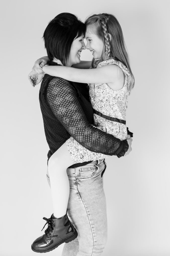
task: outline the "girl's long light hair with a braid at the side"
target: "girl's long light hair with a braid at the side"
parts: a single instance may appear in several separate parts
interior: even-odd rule
[[[129,70],[131,77],[129,86],[130,92],[134,87],[135,80],[129,65],[129,56],[118,20],[112,14],[101,13],[94,14],[87,18],[85,20],[85,24],[86,26],[91,26],[91,28],[95,26],[97,36],[103,40],[104,48],[101,61],[108,60],[109,58],[117,59]],[[94,60],[95,59],[92,60],[92,66],[94,64]]]

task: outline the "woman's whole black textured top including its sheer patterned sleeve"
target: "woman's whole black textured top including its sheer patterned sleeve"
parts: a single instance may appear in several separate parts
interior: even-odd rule
[[[57,64],[50,62],[50,65]],[[128,150],[126,140],[120,141],[91,125],[93,108],[86,84],[73,83],[45,74],[39,99],[46,140],[50,148],[48,159],[70,136],[88,150],[97,153],[121,157]],[[71,167],[89,162],[74,164]]]

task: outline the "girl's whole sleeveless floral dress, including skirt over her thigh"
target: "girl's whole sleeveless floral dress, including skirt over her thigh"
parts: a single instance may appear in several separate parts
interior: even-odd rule
[[[97,84],[90,83],[89,95],[90,101],[94,109],[94,125],[98,129],[112,134],[120,140],[125,140],[127,137],[126,128],[126,109],[128,103],[128,88],[130,86],[130,73],[122,62],[109,59],[96,64],[96,68],[105,65],[119,66],[125,75],[125,83],[122,89],[112,90],[107,83]],[[107,119],[105,118],[107,117]],[[110,120],[108,120],[110,118]],[[119,120],[119,121],[113,121]],[[122,121],[122,123],[120,122]],[[67,148],[72,157],[73,163],[82,163],[91,160],[109,157],[101,153],[91,152],[80,145],[72,137],[67,140]]]

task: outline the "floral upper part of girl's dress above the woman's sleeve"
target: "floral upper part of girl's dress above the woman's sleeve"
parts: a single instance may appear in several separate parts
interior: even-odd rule
[[[93,109],[102,114],[126,121],[126,109],[129,95],[128,88],[130,85],[130,73],[128,69],[122,62],[114,59],[100,62],[97,68],[112,64],[119,66],[125,74],[123,88],[114,91],[106,83],[89,84],[90,101]],[[94,123],[97,127],[102,127],[103,131],[114,135],[120,140],[125,140],[127,137],[126,125],[123,123],[107,120],[97,114],[94,114]]]

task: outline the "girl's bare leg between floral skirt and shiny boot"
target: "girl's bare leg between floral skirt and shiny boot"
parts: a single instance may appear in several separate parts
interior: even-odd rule
[[[66,142],[48,160],[53,214],[56,218],[64,216],[67,211],[70,185],[66,170],[72,164]]]

